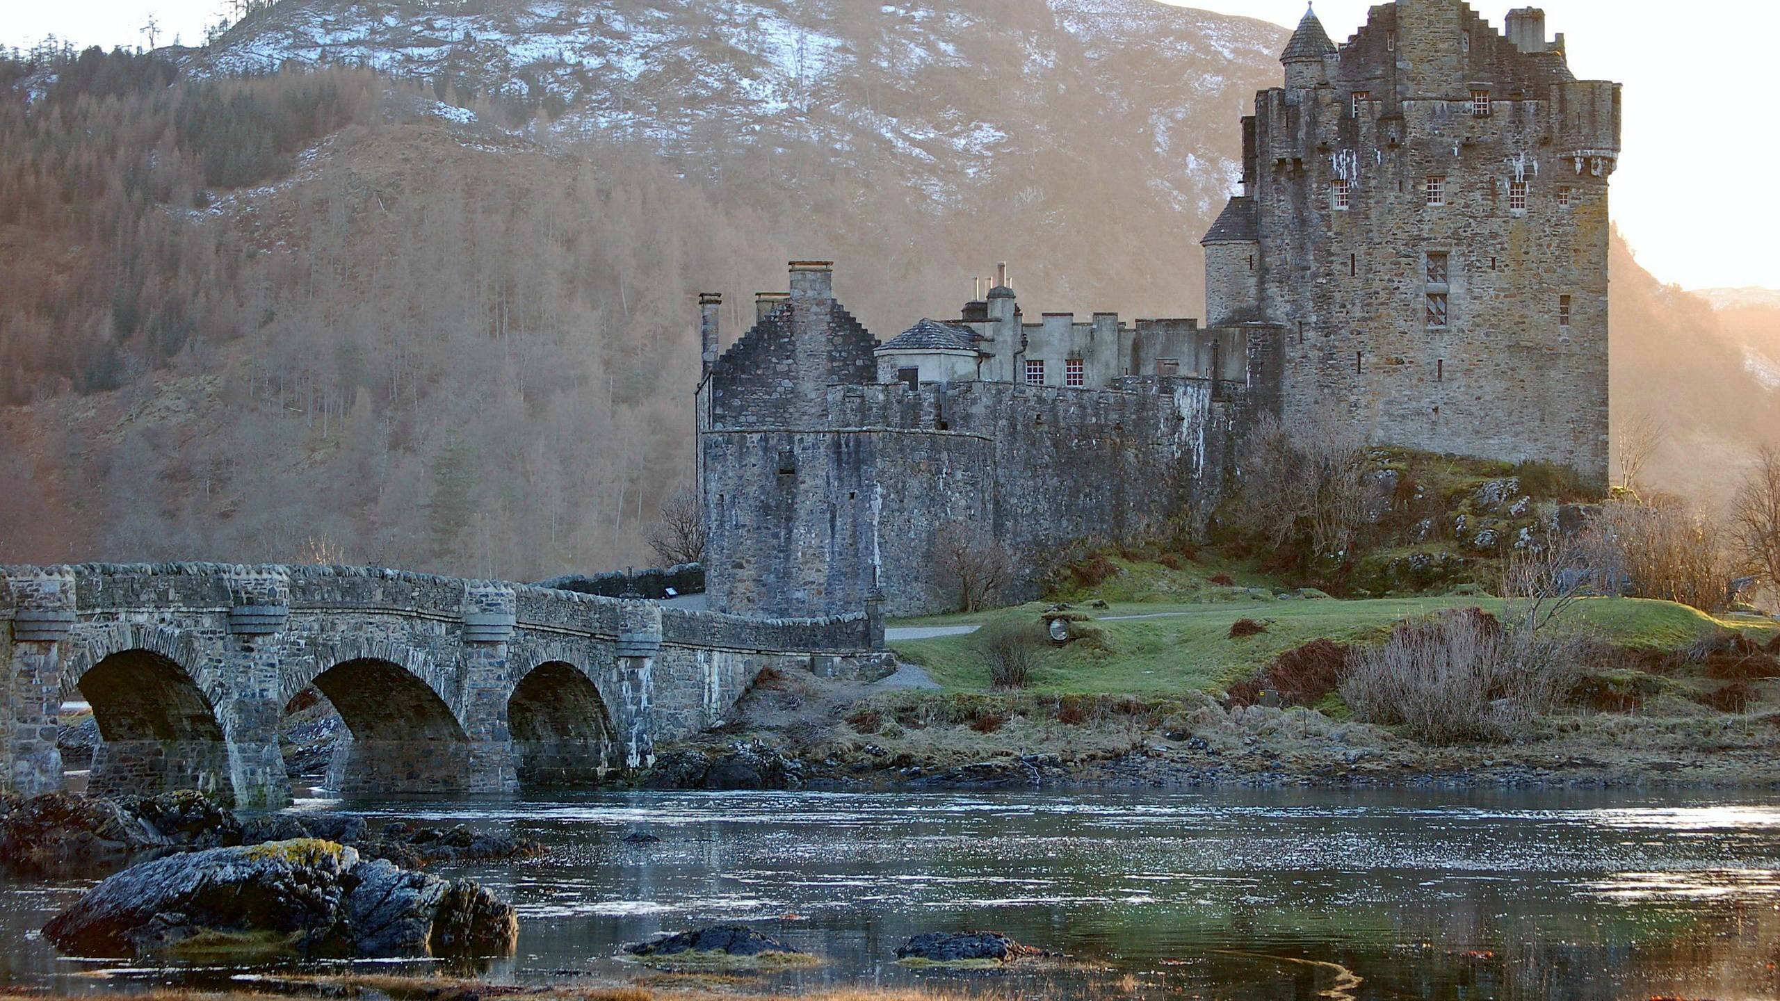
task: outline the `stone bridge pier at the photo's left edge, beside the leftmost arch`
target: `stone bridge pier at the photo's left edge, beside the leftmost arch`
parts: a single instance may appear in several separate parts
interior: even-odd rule
[[[23,796],[64,787],[55,746],[62,711],[62,641],[75,629],[75,575],[43,570],[11,577],[11,655],[5,679],[7,780]]]

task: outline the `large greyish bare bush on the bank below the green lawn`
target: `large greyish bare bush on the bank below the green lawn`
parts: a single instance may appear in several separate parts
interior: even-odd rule
[[[1340,693],[1360,720],[1420,741],[1506,741],[1563,704],[1581,654],[1579,634],[1504,629],[1476,609],[1444,613],[1358,652]]]

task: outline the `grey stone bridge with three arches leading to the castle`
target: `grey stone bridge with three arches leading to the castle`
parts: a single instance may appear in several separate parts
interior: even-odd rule
[[[846,671],[881,607],[822,620],[682,611],[383,568],[0,568],[0,791],[64,785],[57,712],[93,705],[89,789],[290,802],[278,725],[313,686],[349,730],[344,794],[595,782],[723,720],[765,668]]]

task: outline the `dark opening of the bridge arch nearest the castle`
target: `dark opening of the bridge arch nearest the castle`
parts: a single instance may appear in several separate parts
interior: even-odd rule
[[[618,764],[618,727],[587,673],[543,661],[507,696],[507,732],[522,789],[589,785]]]

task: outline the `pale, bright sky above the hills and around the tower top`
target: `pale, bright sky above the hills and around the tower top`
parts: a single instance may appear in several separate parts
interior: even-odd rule
[[[1501,28],[1509,7],[1529,2],[1472,5]],[[1187,0],[1182,5],[1282,25],[1296,25],[1305,12],[1301,0]],[[1339,43],[1360,27],[1371,5],[1369,0],[1319,0],[1317,16]],[[1565,32],[1570,66],[1579,77],[1625,84],[1625,153],[1613,178],[1613,216],[1638,258],[1657,278],[1689,289],[1780,289],[1780,253],[1773,246],[1780,235],[1780,187],[1771,178],[1780,139],[1768,118],[1773,87],[1766,73],[1776,59],[1780,4],[1545,0],[1543,5],[1549,30]],[[7,0],[7,7],[0,18],[0,45],[23,46],[55,34],[77,45],[112,46],[142,45],[141,28],[150,11],[160,23],[162,45],[174,36],[201,41],[221,2]],[[1725,164],[1730,164],[1730,178],[1716,178]]]

